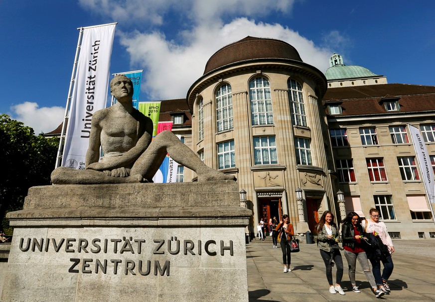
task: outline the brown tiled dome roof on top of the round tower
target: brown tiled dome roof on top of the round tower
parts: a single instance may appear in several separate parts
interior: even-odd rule
[[[215,52],[205,65],[204,75],[231,63],[266,58],[303,62],[297,50],[289,43],[276,39],[247,36]]]

